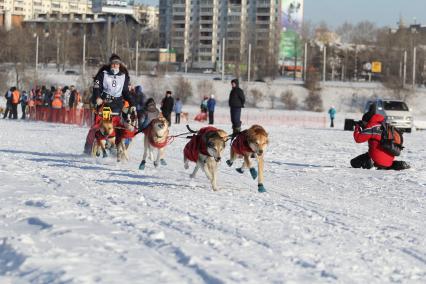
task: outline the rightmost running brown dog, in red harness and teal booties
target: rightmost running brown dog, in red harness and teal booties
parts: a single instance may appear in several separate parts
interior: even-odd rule
[[[231,145],[231,158],[226,161],[228,166],[232,166],[237,158],[243,157],[244,162],[241,168],[237,168],[239,173],[243,173],[245,168],[250,169],[250,174],[253,179],[257,178],[258,173],[256,169],[252,167],[250,157],[257,157],[258,164],[258,191],[265,192],[263,186],[263,167],[264,160],[263,155],[268,145],[268,133],[260,125],[253,125],[247,130],[244,130],[235,137]]]

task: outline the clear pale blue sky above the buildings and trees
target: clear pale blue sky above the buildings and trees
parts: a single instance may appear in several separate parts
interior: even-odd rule
[[[158,0],[137,0],[158,5]],[[336,27],[345,20],[357,23],[369,20],[378,26],[396,26],[399,15],[406,24],[426,25],[426,0],[305,0],[305,19],[313,23],[322,20]]]

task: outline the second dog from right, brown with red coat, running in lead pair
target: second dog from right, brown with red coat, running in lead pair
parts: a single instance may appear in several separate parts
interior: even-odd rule
[[[189,168],[189,161],[195,162],[191,178],[195,178],[198,169],[202,169],[210,180],[214,191],[217,187],[217,165],[222,158],[228,134],[214,127],[204,127],[186,144],[183,151],[184,167]]]

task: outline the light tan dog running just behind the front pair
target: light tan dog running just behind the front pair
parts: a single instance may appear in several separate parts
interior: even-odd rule
[[[154,160],[154,166],[158,167],[160,163],[163,166],[167,165],[164,160],[166,146],[169,142],[169,123],[167,120],[162,116],[153,119],[149,126],[144,130],[144,134],[144,151],[139,169],[145,169],[148,154],[150,160],[154,160],[155,152],[157,156]]]

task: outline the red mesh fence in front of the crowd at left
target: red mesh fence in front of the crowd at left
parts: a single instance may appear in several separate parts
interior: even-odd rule
[[[30,120],[75,124],[79,126],[92,126],[94,113],[90,109],[53,109],[45,106],[29,108]]]

